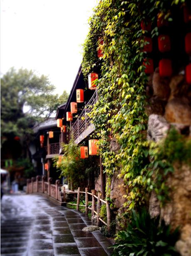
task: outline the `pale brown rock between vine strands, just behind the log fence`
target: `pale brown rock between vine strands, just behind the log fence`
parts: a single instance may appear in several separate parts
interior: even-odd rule
[[[123,195],[125,195],[127,192],[123,185],[123,179],[119,179],[117,175],[118,173],[114,173],[112,176],[110,198],[114,200],[114,207],[120,208],[125,202]]]

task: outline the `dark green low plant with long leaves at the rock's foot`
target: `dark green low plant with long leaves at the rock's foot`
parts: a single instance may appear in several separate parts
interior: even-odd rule
[[[131,223],[126,231],[117,234],[113,256],[176,256],[174,245],[179,237],[178,229],[170,231],[164,221],[151,219],[146,209],[136,213],[132,210]]]

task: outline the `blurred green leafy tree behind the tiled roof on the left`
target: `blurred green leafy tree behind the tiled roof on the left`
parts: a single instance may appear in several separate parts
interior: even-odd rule
[[[54,90],[47,76],[11,68],[1,79],[1,135],[31,134],[35,121],[50,117],[67,100],[66,91],[59,97]]]

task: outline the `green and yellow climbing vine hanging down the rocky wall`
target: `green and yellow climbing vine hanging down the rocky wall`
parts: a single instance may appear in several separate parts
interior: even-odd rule
[[[151,37],[158,33],[158,13],[172,21],[171,5],[184,0],[102,0],[89,20],[89,33],[84,42],[82,71],[85,77],[100,68],[97,81],[99,100],[92,119],[99,137],[100,155],[107,173],[107,193],[114,172],[127,188],[127,210],[145,204],[146,193],[152,189],[147,176],[149,144],[146,141],[147,116],[145,106],[146,76],[143,65],[146,52],[141,22],[151,22]],[[102,46],[99,46],[100,40]],[[98,48],[103,56],[97,57]],[[120,145],[114,153],[110,148],[115,138]]]

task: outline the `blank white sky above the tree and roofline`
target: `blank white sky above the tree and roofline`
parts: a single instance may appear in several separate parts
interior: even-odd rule
[[[82,61],[87,20],[97,0],[1,0],[0,64],[49,76],[62,94],[71,90]]]

